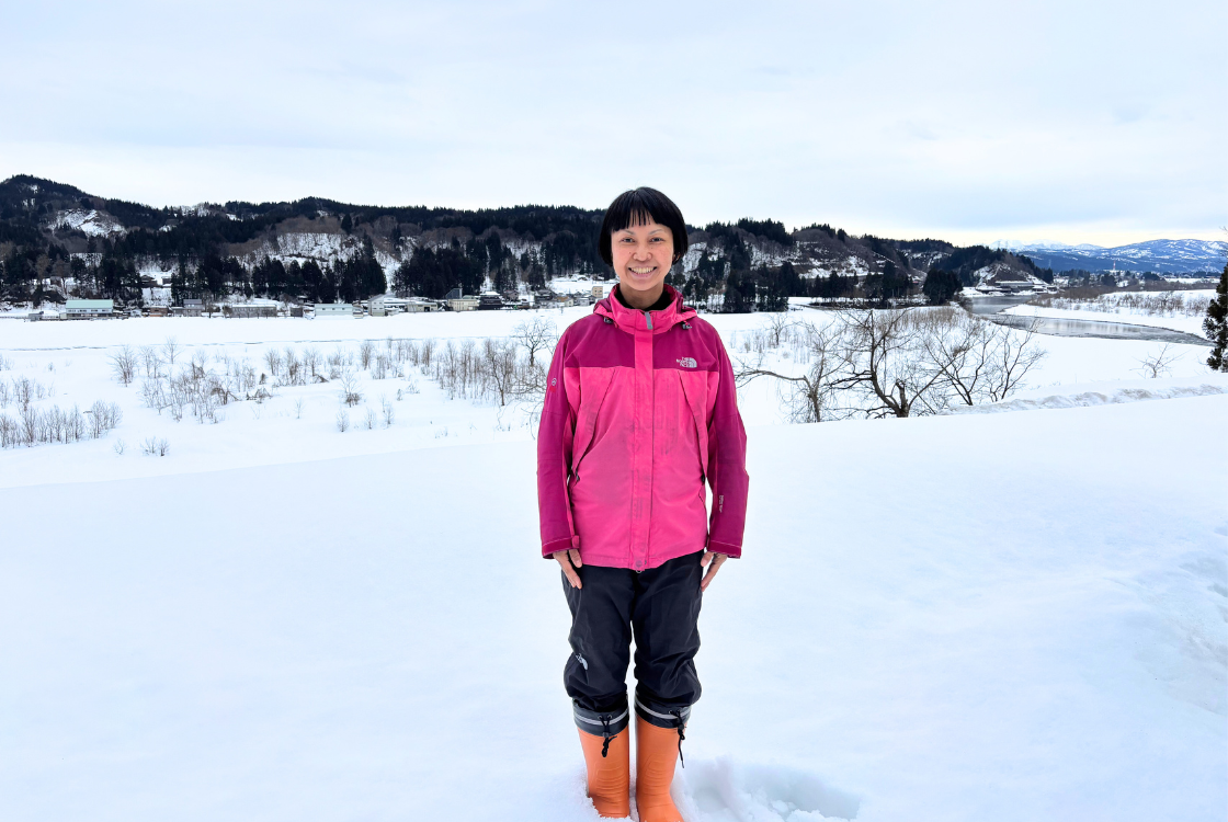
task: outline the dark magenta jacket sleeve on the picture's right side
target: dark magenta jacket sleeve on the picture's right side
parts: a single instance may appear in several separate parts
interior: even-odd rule
[[[712,488],[712,514],[707,529],[707,550],[742,556],[742,531],[747,521],[747,429],[738,412],[738,393],[733,366],[725,346],[720,348],[720,382],[707,427],[707,482]]]

